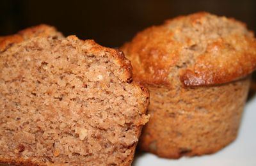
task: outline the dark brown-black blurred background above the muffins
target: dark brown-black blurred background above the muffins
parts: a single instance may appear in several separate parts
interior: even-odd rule
[[[45,23],[56,26],[66,36],[76,34],[107,47],[119,47],[145,27],[196,11],[234,17],[256,31],[253,0],[1,0],[0,7],[0,36]]]

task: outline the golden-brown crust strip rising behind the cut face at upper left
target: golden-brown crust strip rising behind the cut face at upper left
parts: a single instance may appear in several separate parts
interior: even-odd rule
[[[58,36],[62,37],[62,34],[56,31],[55,27],[47,26],[45,24],[41,24],[39,26],[28,27],[22,31],[19,31],[17,34],[9,35],[9,36],[1,36],[0,37],[0,52],[8,49],[14,43],[20,43],[23,40],[27,40],[29,38],[35,36]]]

